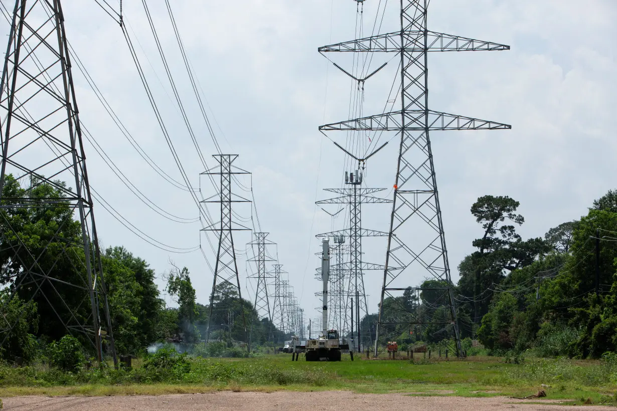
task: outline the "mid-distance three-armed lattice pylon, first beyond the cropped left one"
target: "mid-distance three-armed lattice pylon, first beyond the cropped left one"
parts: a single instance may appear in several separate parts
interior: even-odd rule
[[[213,155],[218,166],[204,171],[201,175],[205,176],[220,176],[220,191],[205,200],[202,203],[220,203],[221,221],[205,227],[202,231],[218,232],[218,250],[217,262],[214,268],[214,279],[212,283],[212,293],[210,294],[210,315],[208,317],[208,325],[205,331],[205,341],[210,338],[210,325],[213,319],[215,325],[213,330],[219,328],[218,320],[228,317],[233,304],[238,304],[242,312],[242,327],[244,328],[244,341],[249,341],[246,328],[246,317],[244,308],[242,307],[242,291],[240,288],[240,278],[238,275],[238,264],[236,262],[236,250],[233,242],[233,232],[241,230],[250,230],[231,218],[231,205],[233,203],[250,203],[250,200],[240,197],[231,192],[231,180],[237,174],[251,174],[241,168],[233,165],[233,162],[238,158],[234,154],[218,154]],[[230,336],[231,336],[231,325]]]

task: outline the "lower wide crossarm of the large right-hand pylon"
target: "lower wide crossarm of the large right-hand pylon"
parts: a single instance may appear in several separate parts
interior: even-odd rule
[[[426,118],[428,116],[428,121]],[[507,130],[512,126],[496,121],[458,116],[433,110],[405,110],[405,124],[402,112],[383,113],[354,120],[341,121],[320,126],[320,131],[445,131],[445,130]]]

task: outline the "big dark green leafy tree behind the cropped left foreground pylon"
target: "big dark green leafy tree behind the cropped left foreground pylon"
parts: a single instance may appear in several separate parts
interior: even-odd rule
[[[62,182],[57,184],[65,186]],[[2,198],[17,200],[2,200],[0,285],[15,291],[22,301],[35,304],[39,316],[36,336],[46,335],[51,340],[59,340],[67,330],[59,316],[65,324],[74,325],[85,324],[91,315],[84,250],[79,246],[83,244],[81,225],[73,219],[73,209],[67,201],[25,208],[20,206],[20,198],[43,203],[48,198],[62,197],[64,193],[59,189],[36,179],[30,189],[23,189],[10,174],[2,187]],[[31,267],[45,273],[45,279],[35,275],[33,280]],[[17,284],[22,286],[17,288]]]

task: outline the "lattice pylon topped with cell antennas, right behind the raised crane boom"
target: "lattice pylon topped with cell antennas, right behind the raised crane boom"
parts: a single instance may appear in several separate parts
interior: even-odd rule
[[[325,234],[318,234],[317,237],[334,237],[336,243],[336,237],[349,237],[349,262],[343,263],[342,269],[349,272],[349,285],[347,287],[347,297],[357,298],[354,299],[355,304],[355,324],[356,329],[350,330],[355,333],[356,338],[354,340],[357,343],[357,349],[360,349],[362,343],[362,329],[360,319],[370,314],[368,312],[368,305],[366,304],[366,293],[364,287],[363,270],[382,270],[384,266],[380,264],[368,264],[362,261],[362,237],[386,237],[386,232],[377,230],[362,229],[362,203],[392,203],[392,200],[386,198],[373,197],[372,193],[380,192],[385,189],[363,189],[360,187],[362,184],[362,173],[358,170],[354,173],[345,173],[345,184],[350,185],[349,189],[326,189],[326,191],[342,194],[342,197],[329,198],[328,200],[317,201],[316,204],[346,204],[349,205],[350,216],[350,228],[344,230],[338,230]],[[334,267],[336,272],[339,267]],[[349,305],[349,301],[346,302],[346,306]],[[347,309],[344,310],[345,322],[344,330],[349,330],[351,319],[347,314],[350,314]],[[370,333],[369,333],[369,340]]]

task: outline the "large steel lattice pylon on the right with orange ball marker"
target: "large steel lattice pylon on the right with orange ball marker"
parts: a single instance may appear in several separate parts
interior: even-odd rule
[[[453,296],[453,284],[445,246],[441,207],[430,131],[510,129],[507,124],[436,112],[428,105],[428,54],[447,51],[499,51],[509,46],[429,31],[429,0],[400,1],[400,31],[320,47],[326,52],[385,52],[400,54],[399,111],[320,126],[321,131],[395,131],[400,149],[394,179],[394,203],[387,240],[375,356],[388,340],[396,340],[411,324],[433,324],[447,330],[460,354],[460,335]],[[431,306],[418,310],[405,304],[404,291],[420,294],[411,287],[429,276]],[[387,307],[384,306],[387,304]]]

